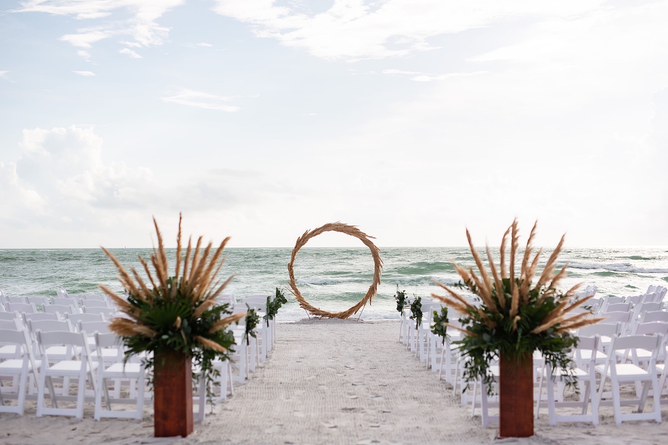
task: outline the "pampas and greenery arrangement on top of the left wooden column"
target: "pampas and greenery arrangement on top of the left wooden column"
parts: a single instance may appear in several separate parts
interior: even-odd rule
[[[158,236],[158,248],[154,248],[150,258],[153,271],[146,260],[139,257],[148,283],[134,268],[128,273],[116,257],[102,247],[116,265],[118,280],[127,294],[127,299],[124,299],[112,289],[100,285],[100,289],[124,313],[123,317],[112,318],[109,327],[122,337],[126,345],[126,360],[132,355],[152,352],[144,359],[146,367],[151,369],[156,355],[178,351],[192,357],[206,378],[212,380],[217,374],[212,361],[228,359],[234,345],[232,331],[226,327],[246,317],[246,313],[227,316],[230,313],[228,305],[216,304],[216,297],[233,277],[222,283],[216,281],[224,261],[222,251],[229,238],[224,239],[214,251],[211,243],[202,249],[202,237],[194,248],[192,239],[189,239],[185,255],[182,255],[179,215],[176,266],[172,275],[155,218],[153,222]]]

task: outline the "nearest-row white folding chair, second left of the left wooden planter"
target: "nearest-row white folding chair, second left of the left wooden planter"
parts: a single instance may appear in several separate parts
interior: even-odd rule
[[[41,351],[41,367],[39,369],[39,386],[37,391],[37,417],[45,414],[54,416],[75,416],[83,418],[83,402],[86,400],[86,382],[90,384],[92,392],[96,392],[94,372],[97,362],[90,359],[86,333],[81,332],[42,332],[37,331],[37,344]],[[78,359],[53,361],[47,355],[47,347],[61,345],[69,348],[77,347],[81,350]],[[49,363],[49,360],[53,364]],[[76,396],[69,395],[69,388],[63,388],[63,395],[57,395],[53,386],[54,378],[75,378],[78,380]],[[45,406],[45,394],[49,392],[51,407]],[[94,395],[92,400],[94,400]],[[75,400],[75,408],[58,408],[58,400]]]

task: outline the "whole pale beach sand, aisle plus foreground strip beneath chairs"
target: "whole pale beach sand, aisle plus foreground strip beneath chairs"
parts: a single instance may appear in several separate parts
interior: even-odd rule
[[[234,396],[208,409],[188,438],[154,438],[144,421],[0,414],[0,444],[665,444],[668,422],[615,424],[611,407],[601,424],[549,426],[536,435],[495,440],[498,424],[460,406],[445,382],[427,371],[401,343],[399,321],[310,319],[277,325],[270,358]],[[649,408],[649,407],[648,407]],[[668,405],[663,406],[668,420]]]

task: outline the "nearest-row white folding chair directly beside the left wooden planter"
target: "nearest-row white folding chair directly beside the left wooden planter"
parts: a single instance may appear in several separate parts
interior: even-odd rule
[[[98,360],[98,390],[95,395],[95,420],[103,417],[132,418],[142,420],[144,417],[144,388],[146,387],[146,369],[143,363],[123,363],[123,348],[120,337],[115,333],[95,333],[96,355]],[[102,351],[110,351],[103,354]],[[110,357],[116,359],[108,364]],[[128,382],[129,397],[110,396],[109,385]],[[123,393],[122,393],[123,394]],[[104,396],[104,405],[102,404]],[[112,404],[134,404],[135,410],[112,410]]]

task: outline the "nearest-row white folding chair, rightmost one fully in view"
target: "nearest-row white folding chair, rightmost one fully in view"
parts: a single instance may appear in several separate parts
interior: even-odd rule
[[[627,337],[614,337],[611,343],[611,351],[605,365],[597,365],[596,370],[602,376],[599,386],[599,406],[603,404],[601,400],[605,382],[610,380],[612,386],[612,405],[615,410],[615,422],[621,424],[624,420],[655,420],[661,422],[661,403],[659,401],[661,391],[657,377],[657,353],[661,344],[661,335],[628,335]],[[635,363],[617,363],[617,353],[626,354],[629,351],[631,360],[637,363],[637,349],[645,349],[652,352],[648,360],[647,369],[643,369]],[[637,399],[621,400],[620,384],[635,384],[641,382],[643,389]],[[649,388],[653,390],[654,407],[652,412],[643,412]],[[637,410],[631,413],[623,413],[622,405],[637,404]]]

